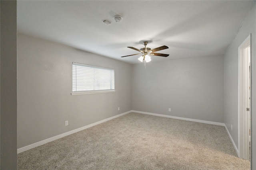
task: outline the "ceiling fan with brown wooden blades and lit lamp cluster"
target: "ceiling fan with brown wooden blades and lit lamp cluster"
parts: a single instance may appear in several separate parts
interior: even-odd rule
[[[156,55],[156,56],[162,56],[162,57],[168,57],[168,54],[161,54],[161,53],[155,53],[156,51],[160,51],[160,50],[164,50],[164,49],[168,49],[169,47],[167,47],[166,45],[163,45],[161,47],[157,47],[155,49],[150,49],[148,47],[146,47],[146,45],[148,44],[148,41],[143,41],[143,45],[145,46],[144,48],[141,49],[136,49],[134,47],[128,47],[130,49],[134,49],[136,51],[140,51],[140,53],[138,54],[132,54],[132,55],[139,55],[139,54],[143,54],[140,58],[138,58],[141,62],[150,62],[151,59],[149,57],[149,55]],[[122,56],[122,57],[128,57],[128,56],[132,56],[132,55],[126,55],[126,56]]]

